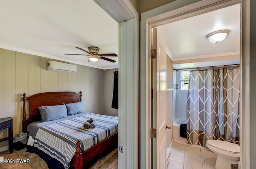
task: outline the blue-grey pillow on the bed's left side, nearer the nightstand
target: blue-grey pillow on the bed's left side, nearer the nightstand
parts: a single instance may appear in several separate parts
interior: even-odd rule
[[[68,116],[67,108],[63,104],[57,106],[41,106],[40,114],[43,122],[57,120]]]

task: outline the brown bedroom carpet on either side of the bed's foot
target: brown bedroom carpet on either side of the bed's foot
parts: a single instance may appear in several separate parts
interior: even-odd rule
[[[0,152],[4,159],[12,159],[15,163],[0,163],[0,169],[48,169],[47,164],[36,153],[26,152],[26,148],[20,151],[14,150]],[[29,163],[20,163],[16,159],[29,159]],[[118,149],[112,149],[100,155],[98,160],[92,161],[88,169],[118,169]]]

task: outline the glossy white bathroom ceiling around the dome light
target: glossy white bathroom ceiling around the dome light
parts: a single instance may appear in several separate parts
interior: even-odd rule
[[[172,61],[238,55],[240,4],[179,20],[157,29]],[[222,29],[230,31],[226,39],[220,43],[210,43],[206,35]]]

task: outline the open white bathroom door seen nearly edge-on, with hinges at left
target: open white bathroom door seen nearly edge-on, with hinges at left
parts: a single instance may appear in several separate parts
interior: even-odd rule
[[[156,126],[156,169],[166,169],[166,47],[157,29],[154,29],[156,59],[153,64],[153,121]],[[156,156],[155,156],[156,155]],[[155,160],[154,160],[155,161]]]

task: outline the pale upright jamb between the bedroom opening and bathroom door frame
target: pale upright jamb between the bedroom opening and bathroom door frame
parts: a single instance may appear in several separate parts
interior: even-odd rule
[[[119,24],[118,145],[123,146],[119,169],[137,169],[139,163],[138,28],[138,17]]]

